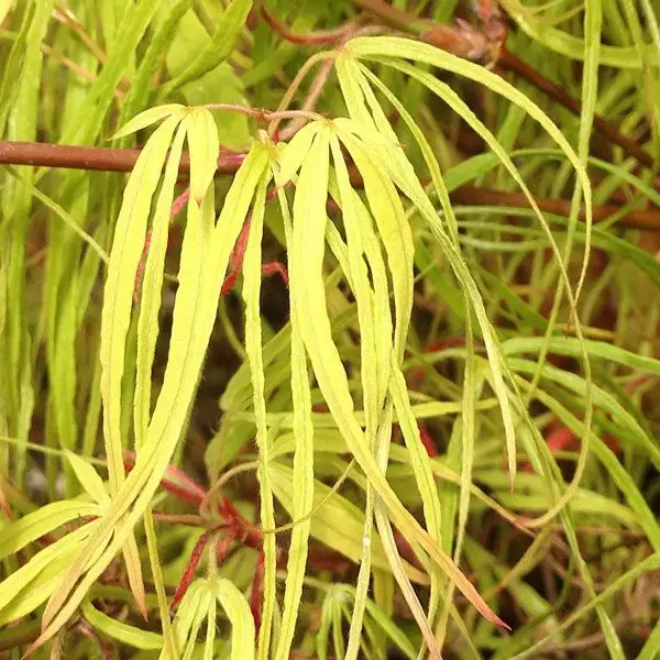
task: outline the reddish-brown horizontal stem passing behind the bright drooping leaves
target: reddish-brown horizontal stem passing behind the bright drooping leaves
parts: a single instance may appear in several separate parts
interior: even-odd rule
[[[97,146],[67,146],[64,144],[44,144],[38,142],[1,142],[0,164],[6,165],[33,165],[40,167],[65,167],[72,169],[103,170],[103,172],[131,172],[134,167],[139,148],[106,148]],[[245,154],[223,152],[218,158],[218,172],[234,174]],[[190,172],[190,160],[184,153],[180,173]],[[351,183],[355,187],[362,186],[360,173],[351,167]],[[451,194],[455,204],[466,206],[508,206],[514,208],[529,208],[527,197],[521,193],[507,193],[491,188],[462,186]],[[548,213],[568,217],[571,210],[569,199],[536,198],[539,208]],[[594,207],[595,221],[605,220],[622,210],[622,205],[601,205]],[[581,217],[583,218],[583,213]],[[619,221],[626,227],[636,229],[660,230],[660,210],[632,210],[627,212]]]

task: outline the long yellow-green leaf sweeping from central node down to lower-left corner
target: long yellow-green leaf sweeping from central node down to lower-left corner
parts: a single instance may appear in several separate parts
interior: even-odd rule
[[[194,209],[193,221],[184,235],[169,358],[147,439],[133,470],[113,496],[108,515],[99,520],[95,539],[82,548],[64,575],[57,597],[51,598],[54,616],[32,648],[53,637],[68,620],[151,503],[179,440],[216,319],[229,256],[267,162],[266,148],[255,144],[237,173],[215,229],[212,186],[201,209],[188,206]],[[205,238],[209,235],[210,240]],[[119,525],[129,509],[123,525]],[[106,544],[110,537],[111,542]]]

